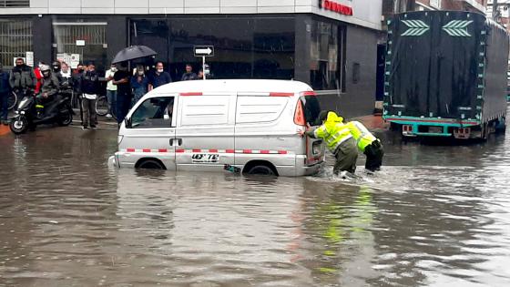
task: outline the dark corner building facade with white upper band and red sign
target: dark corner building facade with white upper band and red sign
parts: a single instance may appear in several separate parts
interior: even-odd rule
[[[214,77],[301,80],[352,117],[373,109],[381,1],[0,0],[0,56],[105,69],[120,49],[146,45],[179,79],[187,63],[200,67],[193,46],[211,45]]]

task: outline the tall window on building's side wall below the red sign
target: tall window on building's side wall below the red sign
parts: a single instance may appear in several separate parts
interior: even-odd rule
[[[311,87],[319,90],[344,91],[343,26],[316,21],[311,27]]]

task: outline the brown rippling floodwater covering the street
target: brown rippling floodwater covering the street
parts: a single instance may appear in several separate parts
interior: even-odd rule
[[[382,138],[382,172],[346,180],[108,169],[116,130],[5,135],[0,286],[509,286],[510,132]]]

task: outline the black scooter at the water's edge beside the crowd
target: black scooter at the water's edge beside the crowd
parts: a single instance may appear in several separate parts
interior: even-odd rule
[[[64,127],[73,122],[74,114],[68,97],[57,94],[51,102],[42,107],[37,105],[34,94],[26,92],[15,110],[15,117],[9,127],[16,135],[26,133],[28,128],[35,129],[37,125],[57,123]]]

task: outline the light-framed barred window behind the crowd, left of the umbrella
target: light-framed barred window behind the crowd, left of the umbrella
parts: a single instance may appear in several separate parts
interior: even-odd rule
[[[54,22],[55,39],[54,58],[66,56],[66,62],[76,68],[76,62],[69,56],[79,55],[79,62],[87,64],[94,61],[98,70],[104,70],[107,60],[107,23],[106,22]],[[85,46],[77,45],[83,41]],[[82,43],[83,43],[82,42]]]

